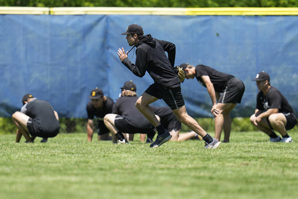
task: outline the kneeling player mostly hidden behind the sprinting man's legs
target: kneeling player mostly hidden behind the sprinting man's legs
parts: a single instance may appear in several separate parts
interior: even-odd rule
[[[168,106],[157,107],[149,105],[149,107],[153,110],[155,115],[160,118],[160,123],[169,133],[171,134],[172,138],[170,141],[185,141],[188,139],[197,139],[202,140],[203,138],[199,136],[196,132],[191,131],[187,133],[179,134],[181,131],[181,122],[176,118],[173,111]],[[146,143],[152,143],[153,137],[155,133],[147,134]],[[145,141],[145,134],[141,134],[140,136],[141,141]]]

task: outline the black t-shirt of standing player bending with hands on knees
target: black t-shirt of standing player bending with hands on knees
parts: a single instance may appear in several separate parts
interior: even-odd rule
[[[196,79],[200,82],[200,84],[206,87],[204,81],[201,76],[209,76],[210,81],[213,84],[215,92],[222,93],[226,87],[227,82],[233,78],[233,75],[229,75],[223,72],[219,72],[209,66],[197,65],[196,66]]]

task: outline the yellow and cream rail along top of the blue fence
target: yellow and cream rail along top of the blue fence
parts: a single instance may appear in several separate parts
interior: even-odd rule
[[[31,15],[298,15],[292,7],[0,7],[0,14]]]

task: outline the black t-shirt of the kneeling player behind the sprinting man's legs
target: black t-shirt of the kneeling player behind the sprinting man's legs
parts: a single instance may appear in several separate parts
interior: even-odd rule
[[[167,127],[172,120],[178,121],[178,119],[176,118],[175,114],[173,113],[172,109],[170,109],[170,107],[168,106],[156,107],[152,105],[149,105],[149,106],[153,110],[154,114],[160,117],[160,123],[162,126]]]

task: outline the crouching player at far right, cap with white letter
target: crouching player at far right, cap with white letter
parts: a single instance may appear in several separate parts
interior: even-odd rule
[[[266,72],[259,72],[255,79],[258,89],[255,114],[250,118],[251,124],[270,137],[271,142],[292,142],[287,130],[295,127],[297,118],[291,105],[279,90],[270,85]],[[273,130],[282,135],[280,138]]]

